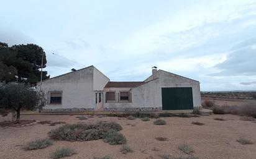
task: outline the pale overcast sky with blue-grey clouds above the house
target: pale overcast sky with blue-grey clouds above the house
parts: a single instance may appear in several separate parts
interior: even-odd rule
[[[256,90],[256,1],[0,4],[0,41],[42,46],[51,77],[94,65],[112,81],[137,81],[157,66],[201,90]]]

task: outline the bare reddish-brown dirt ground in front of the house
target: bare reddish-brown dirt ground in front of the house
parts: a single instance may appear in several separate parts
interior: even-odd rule
[[[103,140],[86,142],[55,141],[50,147],[39,150],[22,150],[22,145],[30,140],[48,137],[47,132],[56,126],[48,124],[34,124],[25,127],[0,127],[0,158],[50,158],[56,148],[75,148],[77,154],[68,158],[93,159],[111,155],[116,159],[157,159],[163,153],[173,157],[186,156],[178,149],[181,144],[188,144],[194,148],[193,155],[200,159],[255,159],[256,144],[241,145],[236,140],[244,137],[256,142],[256,123],[241,121],[239,116],[225,114],[201,116],[200,118],[162,118],[167,125],[153,125],[155,119],[141,121],[140,119],[128,120],[126,118],[94,116],[80,121],[78,115],[22,115],[21,119],[35,119],[37,121],[50,120],[66,123],[94,123],[98,121],[115,121],[123,127],[121,131],[127,138],[127,144],[134,150],[126,155],[120,152],[121,145],[109,145]],[[0,121],[7,120],[2,118]],[[214,118],[224,118],[226,121],[216,121]],[[203,122],[205,125],[191,124],[193,121]],[[130,125],[127,125],[130,124]],[[132,126],[133,125],[133,126]],[[135,125],[135,126],[134,126]],[[156,140],[155,137],[167,137],[167,141]]]

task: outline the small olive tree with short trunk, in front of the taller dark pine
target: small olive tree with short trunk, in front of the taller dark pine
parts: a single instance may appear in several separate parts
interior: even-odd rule
[[[45,105],[45,96],[34,87],[24,84],[0,85],[0,113],[16,112],[16,122],[19,122],[21,109],[41,109]]]

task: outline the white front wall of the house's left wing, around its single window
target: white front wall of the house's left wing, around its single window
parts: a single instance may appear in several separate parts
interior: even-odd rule
[[[93,90],[93,66],[79,71],[53,77],[42,82],[42,90],[47,95],[48,103],[43,108],[69,109],[82,108],[94,110],[95,93]],[[95,85],[98,88],[98,85]],[[50,104],[50,92],[62,92],[62,104]]]

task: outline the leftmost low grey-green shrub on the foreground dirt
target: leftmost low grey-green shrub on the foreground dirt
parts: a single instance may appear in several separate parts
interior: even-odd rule
[[[35,149],[39,149],[39,148],[49,147],[52,144],[53,144],[52,140],[37,139],[37,140],[28,142],[27,144],[24,145],[23,148],[25,150],[35,150]]]

